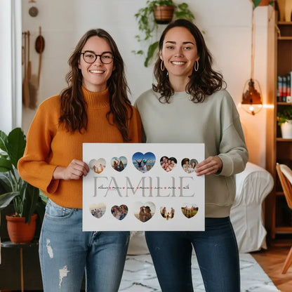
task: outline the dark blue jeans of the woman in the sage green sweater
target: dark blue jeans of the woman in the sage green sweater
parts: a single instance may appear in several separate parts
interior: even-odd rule
[[[204,232],[145,232],[163,292],[193,292],[192,246],[206,292],[240,292],[239,252],[230,218],[206,218]]]

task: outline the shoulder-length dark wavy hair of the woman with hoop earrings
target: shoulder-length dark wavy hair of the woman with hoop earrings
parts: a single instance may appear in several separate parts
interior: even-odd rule
[[[199,55],[199,69],[197,72],[193,70],[185,91],[192,95],[192,102],[204,102],[207,95],[211,95],[215,91],[226,87],[223,75],[212,69],[213,59],[211,53],[208,51],[204,37],[198,27],[189,20],[175,20],[164,29],[159,40],[159,51],[163,48],[166,33],[173,27],[185,27],[196,40]],[[160,93],[160,102],[169,103],[171,95],[174,94],[174,90],[168,79],[167,70],[161,71],[160,65],[161,59],[158,57],[154,65],[154,77],[157,79],[157,85],[152,84],[152,88],[155,92]]]

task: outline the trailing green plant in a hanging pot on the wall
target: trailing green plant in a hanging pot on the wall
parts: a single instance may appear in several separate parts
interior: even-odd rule
[[[167,6],[167,7],[166,7]],[[164,16],[162,11],[167,9],[168,13]],[[166,24],[172,20],[172,14],[170,11],[174,11],[175,18],[185,18],[193,21],[194,14],[190,11],[189,6],[186,3],[175,4],[173,0],[148,0],[144,8],[140,8],[138,13],[135,14],[135,18],[138,22],[138,27],[141,35],[136,35],[135,38],[140,41],[152,41],[154,30],[157,30],[157,24]],[[160,15],[161,18],[155,21],[154,13],[157,17]],[[170,16],[171,15],[171,16]],[[152,59],[154,52],[157,51],[158,41],[154,41],[147,49],[147,55],[145,57],[144,65],[148,66]],[[138,55],[143,55],[144,51],[133,51]]]

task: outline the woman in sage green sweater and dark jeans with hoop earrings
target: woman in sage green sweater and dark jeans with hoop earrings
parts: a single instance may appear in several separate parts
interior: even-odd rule
[[[225,82],[212,67],[199,29],[187,20],[171,22],[159,41],[154,66],[157,85],[136,101],[145,142],[205,143],[204,232],[146,232],[163,292],[192,292],[192,247],[207,292],[239,292],[239,253],[230,223],[234,174],[244,170],[248,152],[239,114]]]

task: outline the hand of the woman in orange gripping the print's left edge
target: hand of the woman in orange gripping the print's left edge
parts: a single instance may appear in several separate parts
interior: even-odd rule
[[[53,173],[54,180],[79,180],[86,176],[89,166],[81,160],[73,159],[67,167],[57,166]]]

